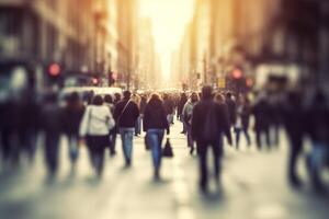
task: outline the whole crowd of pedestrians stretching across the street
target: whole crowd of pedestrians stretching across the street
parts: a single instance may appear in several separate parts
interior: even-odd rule
[[[93,92],[60,95],[47,92],[42,99],[24,92],[0,102],[1,171],[14,171],[21,162],[33,163],[36,146],[41,145],[48,176],[56,177],[60,138],[65,135],[71,169],[76,169],[80,147],[86,145],[91,166],[101,177],[104,157],[116,155],[117,136],[122,140],[125,168],[129,168],[134,136],[145,131],[154,177],[160,180],[161,159],[166,157],[163,138],[170,135],[172,124],[182,123],[181,134],[186,135],[190,153],[200,159],[200,188],[204,193],[208,189],[208,149],[214,155],[215,181],[220,186],[226,145],[239,150],[245,137],[247,148],[276,150],[282,147],[284,136],[290,149],[288,183],[303,185],[297,161],[304,159],[314,188],[322,191],[326,182],[321,175],[329,166],[328,119],[329,106],[321,90],[311,94],[294,90],[251,95],[204,87],[201,92],[181,93],[124,91],[113,95]],[[39,139],[43,143],[37,143]],[[169,139],[166,147],[170,147]]]

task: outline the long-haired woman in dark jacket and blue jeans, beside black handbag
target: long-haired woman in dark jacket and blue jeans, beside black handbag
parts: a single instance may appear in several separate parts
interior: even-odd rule
[[[158,94],[152,94],[145,107],[144,130],[147,132],[147,141],[151,149],[155,166],[155,180],[159,180],[161,166],[161,145],[164,130],[167,130],[167,134],[169,135],[169,124],[163,103]]]

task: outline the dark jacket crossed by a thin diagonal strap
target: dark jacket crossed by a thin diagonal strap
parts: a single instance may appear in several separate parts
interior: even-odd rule
[[[114,119],[118,128],[134,128],[136,119],[139,116],[139,110],[135,102],[129,101],[127,107],[124,107],[128,103],[128,100],[123,100],[115,105]]]

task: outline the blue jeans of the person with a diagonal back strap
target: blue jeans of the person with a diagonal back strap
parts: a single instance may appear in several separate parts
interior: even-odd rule
[[[132,162],[132,153],[133,153],[133,137],[135,128],[120,128],[118,129],[122,140],[122,147],[124,157],[126,160],[126,164],[131,164]]]

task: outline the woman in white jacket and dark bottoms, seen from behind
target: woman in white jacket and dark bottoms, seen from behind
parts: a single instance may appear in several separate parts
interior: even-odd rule
[[[89,105],[83,114],[80,136],[87,140],[91,165],[99,177],[103,173],[109,134],[114,126],[115,122],[109,107],[103,104],[102,96],[95,95],[92,105]]]

